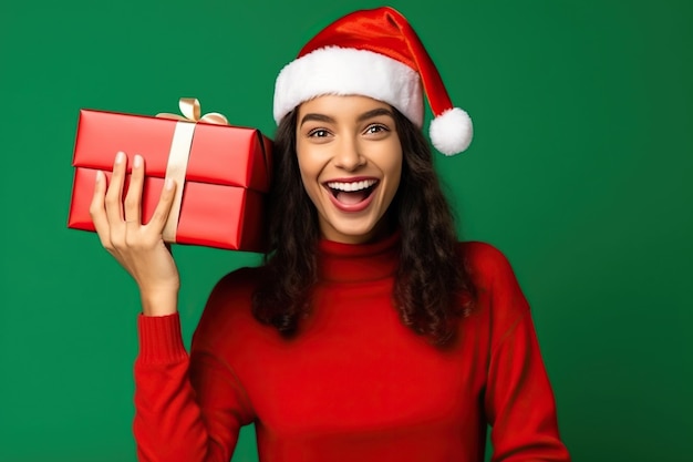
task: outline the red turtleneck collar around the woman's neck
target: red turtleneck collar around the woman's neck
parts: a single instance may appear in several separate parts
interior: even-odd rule
[[[394,275],[399,264],[400,232],[370,244],[318,244],[318,279],[329,283],[365,283]]]

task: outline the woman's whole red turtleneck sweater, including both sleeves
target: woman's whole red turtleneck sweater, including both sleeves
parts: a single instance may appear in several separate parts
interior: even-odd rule
[[[219,281],[188,357],[178,317],[138,319],[134,432],[142,461],[229,461],[255,423],[268,462],[568,461],[529,307],[506,258],[462,245],[478,304],[436,349],[392,306],[397,237],[320,244],[301,333],[250,312],[258,269]],[[461,261],[462,264],[462,261]]]

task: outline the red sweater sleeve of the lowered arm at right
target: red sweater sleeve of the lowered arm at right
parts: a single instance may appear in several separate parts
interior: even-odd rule
[[[570,460],[561,443],[554,392],[539,351],[529,306],[508,260],[493,247],[492,343],[485,396],[493,462]]]

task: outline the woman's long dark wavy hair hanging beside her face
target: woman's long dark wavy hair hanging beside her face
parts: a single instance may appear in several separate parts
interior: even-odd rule
[[[301,182],[296,154],[297,113],[283,117],[275,135],[269,194],[269,250],[252,312],[289,337],[300,330],[318,280],[318,213]],[[459,248],[451,208],[433,167],[422,131],[393,109],[402,143],[402,178],[387,211],[401,229],[400,265],[393,290],[402,322],[444,346],[456,320],[470,312],[476,290]]]

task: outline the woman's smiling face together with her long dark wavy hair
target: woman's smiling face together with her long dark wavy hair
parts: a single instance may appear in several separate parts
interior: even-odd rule
[[[272,250],[263,268],[268,276],[255,292],[256,317],[286,335],[299,328],[325,261],[311,251],[319,239],[366,244],[394,233],[400,236],[396,311],[415,332],[445,343],[455,319],[470,308],[475,287],[459,263],[453,217],[421,130],[382,101],[320,95],[280,121],[275,155]],[[328,176],[321,179],[323,172]],[[330,188],[353,189],[344,179],[361,183],[363,172],[370,172],[363,181],[371,183],[370,192],[350,199]]]

